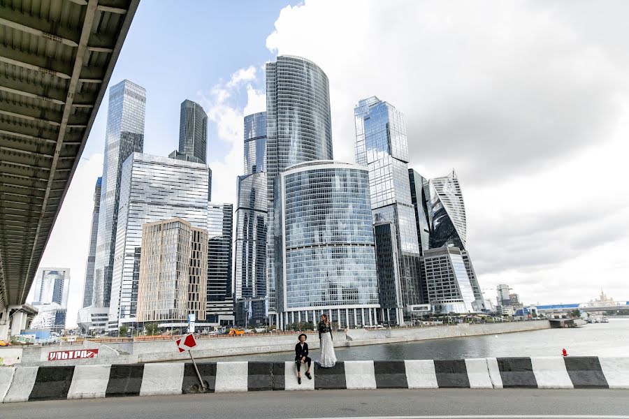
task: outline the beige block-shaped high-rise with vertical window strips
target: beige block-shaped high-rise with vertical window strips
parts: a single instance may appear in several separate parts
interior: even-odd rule
[[[208,232],[174,218],[142,228],[138,322],[182,325],[205,318]]]

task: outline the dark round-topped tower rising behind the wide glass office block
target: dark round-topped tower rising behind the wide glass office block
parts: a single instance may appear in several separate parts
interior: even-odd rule
[[[207,144],[208,115],[201,105],[186,99],[181,103],[178,154],[183,160],[205,163]]]

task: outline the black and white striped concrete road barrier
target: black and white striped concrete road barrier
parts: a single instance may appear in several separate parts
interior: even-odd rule
[[[629,358],[548,357],[345,361],[312,368],[297,383],[295,362],[211,362],[198,370],[207,392],[373,388],[626,388]],[[0,401],[176,395],[198,392],[185,363],[0,368]]]

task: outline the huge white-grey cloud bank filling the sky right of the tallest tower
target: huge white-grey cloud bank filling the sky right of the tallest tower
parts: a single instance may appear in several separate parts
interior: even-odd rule
[[[266,45],[328,75],[335,159],[353,160],[354,105],[375,95],[405,115],[410,167],[456,168],[482,288],[622,299],[628,13],[626,2],[306,0],[280,12]]]

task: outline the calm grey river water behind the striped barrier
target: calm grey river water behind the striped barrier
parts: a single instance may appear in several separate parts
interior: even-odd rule
[[[295,340],[296,341],[296,340]],[[399,344],[378,344],[335,348],[338,360],[456,360],[516,356],[561,355],[629,356],[629,318],[611,318],[609,323],[594,323],[572,329],[544,329],[475,337],[453,337]],[[208,361],[282,361],[292,360],[290,352],[261,353]],[[319,360],[319,350],[310,351]]]

